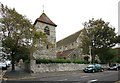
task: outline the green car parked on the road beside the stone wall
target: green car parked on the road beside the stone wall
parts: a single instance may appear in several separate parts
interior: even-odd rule
[[[91,72],[91,73],[95,73],[95,72],[102,72],[104,71],[103,67],[100,64],[92,64],[92,65],[88,65],[86,68],[83,69],[83,71],[86,72]]]

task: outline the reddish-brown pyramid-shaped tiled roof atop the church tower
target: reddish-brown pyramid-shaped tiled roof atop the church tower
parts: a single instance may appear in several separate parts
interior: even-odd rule
[[[53,23],[49,18],[48,16],[45,14],[45,13],[42,13],[42,15],[36,19],[34,25],[36,24],[36,22],[39,21],[39,22],[42,22],[42,23],[46,23],[46,24],[50,24],[50,25],[53,25],[53,26],[57,26],[55,23]]]

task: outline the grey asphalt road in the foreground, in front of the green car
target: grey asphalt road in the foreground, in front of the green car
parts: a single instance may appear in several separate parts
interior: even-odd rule
[[[31,80],[39,81],[79,81],[89,83],[91,81],[117,81],[118,71],[104,71],[98,73],[79,73],[57,77],[34,78]]]

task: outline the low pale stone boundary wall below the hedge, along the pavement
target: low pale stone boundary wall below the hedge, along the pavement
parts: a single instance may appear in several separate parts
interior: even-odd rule
[[[35,60],[31,62],[31,71],[37,72],[57,72],[57,71],[76,71],[83,70],[88,66],[88,64],[74,64],[74,63],[64,63],[64,64],[35,64]]]

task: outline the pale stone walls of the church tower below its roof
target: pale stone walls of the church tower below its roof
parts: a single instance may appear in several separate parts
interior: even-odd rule
[[[47,42],[48,44],[42,44],[41,42],[38,42],[36,44],[37,48],[40,48],[36,50],[33,53],[34,58],[46,58],[46,59],[53,59],[56,58],[56,31],[55,31],[55,26],[43,23],[43,22],[37,22],[35,24],[35,27],[37,31],[42,31],[45,33],[44,29],[46,27],[49,28],[49,35],[47,36]]]

